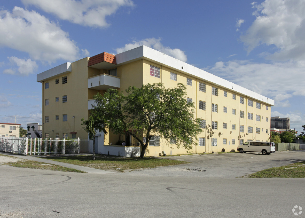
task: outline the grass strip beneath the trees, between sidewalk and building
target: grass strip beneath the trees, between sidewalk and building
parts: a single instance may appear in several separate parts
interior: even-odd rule
[[[92,155],[56,156],[45,158],[79,166],[88,166],[100,170],[116,170],[121,172],[125,170],[138,170],[157,166],[170,166],[189,163],[185,161],[162,158],[114,157],[106,155],[95,155],[95,160],[92,160]]]

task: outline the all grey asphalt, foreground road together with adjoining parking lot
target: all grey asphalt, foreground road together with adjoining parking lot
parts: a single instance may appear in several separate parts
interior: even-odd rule
[[[235,178],[304,161],[302,151],[166,158],[192,163],[113,174],[0,166],[0,217],[296,217],[295,205],[305,209],[305,179]]]

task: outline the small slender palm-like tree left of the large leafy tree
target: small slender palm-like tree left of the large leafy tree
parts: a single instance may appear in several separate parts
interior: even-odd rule
[[[84,125],[83,129],[88,133],[90,140],[93,140],[93,160],[95,160],[95,133],[96,130],[103,131],[107,134],[107,131],[103,125],[102,120],[98,116],[90,115],[88,120],[81,119],[83,121],[81,125]]]

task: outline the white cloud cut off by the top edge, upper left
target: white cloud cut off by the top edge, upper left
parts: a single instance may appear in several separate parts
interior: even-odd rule
[[[133,6],[131,0],[22,0],[25,5],[35,5],[62,20],[89,27],[107,27],[106,16],[121,6]]]

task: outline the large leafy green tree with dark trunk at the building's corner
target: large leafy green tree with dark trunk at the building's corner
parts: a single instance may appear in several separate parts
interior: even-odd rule
[[[126,95],[108,89],[104,95],[94,96],[92,113],[103,117],[105,127],[114,134],[128,133],[142,146],[145,155],[152,134],[166,141],[175,140],[176,146],[192,149],[192,138],[202,130],[200,119],[194,120],[194,104],[186,100],[186,87],[165,88],[162,83],[129,87]]]

